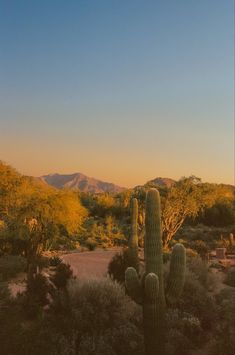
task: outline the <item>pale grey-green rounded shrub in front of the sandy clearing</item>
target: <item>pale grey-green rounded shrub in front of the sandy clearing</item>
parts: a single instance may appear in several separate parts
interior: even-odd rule
[[[68,291],[80,337],[79,354],[142,354],[136,320],[140,309],[118,283],[72,280]]]

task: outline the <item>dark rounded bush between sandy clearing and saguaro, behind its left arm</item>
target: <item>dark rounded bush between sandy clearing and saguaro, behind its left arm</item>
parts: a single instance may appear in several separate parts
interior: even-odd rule
[[[116,253],[108,265],[108,274],[113,279],[120,283],[125,282],[125,271],[132,266],[137,272],[139,271],[139,259],[134,254],[130,253],[129,249],[123,249]]]

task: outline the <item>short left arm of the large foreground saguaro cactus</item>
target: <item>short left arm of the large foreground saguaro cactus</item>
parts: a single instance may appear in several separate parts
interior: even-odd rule
[[[133,267],[128,267],[125,272],[125,285],[128,295],[138,304],[143,302],[143,289],[137,271]]]

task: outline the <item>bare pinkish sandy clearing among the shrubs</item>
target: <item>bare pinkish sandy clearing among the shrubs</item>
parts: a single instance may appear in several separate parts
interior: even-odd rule
[[[79,278],[103,277],[107,274],[108,264],[120,249],[94,250],[61,256],[68,263],[75,276]]]

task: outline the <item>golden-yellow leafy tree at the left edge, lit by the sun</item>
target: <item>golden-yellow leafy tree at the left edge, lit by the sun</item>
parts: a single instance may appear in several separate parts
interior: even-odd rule
[[[48,240],[61,233],[77,233],[87,212],[76,193],[21,176],[1,162],[0,175],[2,252],[17,252],[6,249],[14,244],[20,245],[26,257],[33,257],[50,245]],[[17,244],[17,240],[21,242]]]

